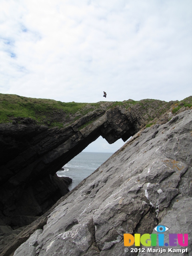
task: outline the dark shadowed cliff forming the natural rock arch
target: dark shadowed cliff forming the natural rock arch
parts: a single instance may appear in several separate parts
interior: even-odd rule
[[[24,226],[44,214],[68,192],[70,180],[56,176],[64,164],[99,136],[110,144],[126,141],[170,105],[145,100],[129,108],[102,106],[61,129],[39,126],[30,118],[0,124],[1,221]]]

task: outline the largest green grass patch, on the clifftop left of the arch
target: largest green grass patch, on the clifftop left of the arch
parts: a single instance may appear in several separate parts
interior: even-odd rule
[[[64,113],[66,118],[82,110],[87,103],[60,102],[56,100],[26,98],[14,94],[0,94],[0,123],[11,122],[15,117],[32,118],[48,126],[61,126],[51,122],[54,114]]]

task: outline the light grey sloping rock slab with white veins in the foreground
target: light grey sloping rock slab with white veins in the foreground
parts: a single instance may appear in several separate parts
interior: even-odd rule
[[[191,149],[192,110],[140,130],[61,198],[43,229],[36,230],[14,256],[148,255],[125,253],[123,234],[155,233],[157,224],[167,226],[169,233],[187,233],[185,255],[191,255]],[[8,255],[6,249],[2,256]]]

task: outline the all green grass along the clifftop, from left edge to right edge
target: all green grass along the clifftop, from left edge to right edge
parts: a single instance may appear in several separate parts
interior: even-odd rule
[[[60,102],[48,99],[26,98],[14,94],[0,94],[0,123],[12,122],[14,118],[32,118],[42,125],[59,126],[73,118],[73,121],[80,116],[96,108],[101,108],[101,104],[107,108],[114,106],[124,106],[129,108],[132,105],[139,104],[145,106],[152,104],[155,100],[125,100],[123,102],[98,102],[98,103],[76,103]],[[165,102],[162,102],[162,104]],[[182,106],[192,106],[192,96],[174,104],[174,112]],[[75,115],[75,117],[74,117]],[[75,119],[74,119],[75,118]]]

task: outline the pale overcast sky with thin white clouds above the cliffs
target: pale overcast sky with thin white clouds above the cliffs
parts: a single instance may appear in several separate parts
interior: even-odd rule
[[[192,0],[0,0],[0,93],[182,100],[192,95]]]

